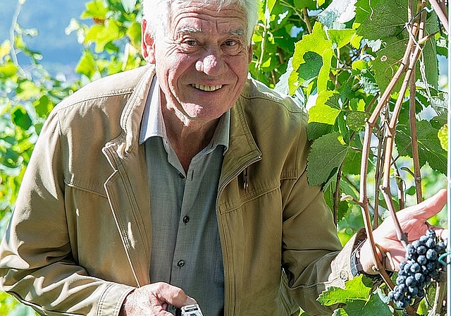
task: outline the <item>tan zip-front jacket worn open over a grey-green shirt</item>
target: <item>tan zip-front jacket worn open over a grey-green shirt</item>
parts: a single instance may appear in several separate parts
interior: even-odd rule
[[[138,137],[153,75],[146,66],[97,80],[42,129],[1,243],[0,284],[43,315],[118,315],[152,282]],[[299,305],[330,315],[316,298],[351,275],[353,242],[340,252],[321,190],[307,184],[306,126],[291,99],[254,80],[231,111],[216,205],[226,316],[297,315]]]

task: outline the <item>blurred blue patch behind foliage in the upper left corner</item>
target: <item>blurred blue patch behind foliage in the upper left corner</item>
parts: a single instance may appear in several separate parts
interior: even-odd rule
[[[71,72],[80,59],[82,47],[75,33],[66,35],[65,29],[71,18],[80,20],[85,3],[85,0],[25,0],[18,23],[23,28],[39,30],[37,37],[25,37],[25,42],[42,54],[41,63],[49,71]],[[0,43],[10,38],[18,4],[19,0],[0,0]]]

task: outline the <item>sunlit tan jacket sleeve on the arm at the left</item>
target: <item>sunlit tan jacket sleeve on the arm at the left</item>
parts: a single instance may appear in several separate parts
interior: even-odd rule
[[[0,286],[42,315],[118,315],[131,286],[90,277],[71,253],[57,114],[46,121],[0,247]]]

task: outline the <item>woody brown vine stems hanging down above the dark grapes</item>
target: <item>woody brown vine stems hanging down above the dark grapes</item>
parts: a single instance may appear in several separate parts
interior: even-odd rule
[[[430,0],[430,4],[437,13],[438,18],[440,19],[440,23],[443,25],[443,28],[448,31],[448,23],[447,23],[447,14],[445,4],[443,2],[437,2],[435,0]],[[426,25],[426,11],[424,8],[428,4],[426,1],[420,0],[419,2],[415,2],[414,0],[409,0],[408,14],[409,14],[409,23],[405,25],[407,31],[409,32],[409,41],[407,43],[407,47],[400,61],[400,66],[397,69],[395,75],[390,80],[390,84],[381,95],[381,98],[378,101],[375,109],[373,110],[371,116],[366,121],[366,128],[364,134],[364,145],[362,152],[362,164],[360,169],[360,174],[362,176],[362,180],[360,182],[360,200],[357,201],[359,206],[362,208],[362,214],[364,217],[364,226],[366,229],[366,236],[371,243],[371,252],[373,256],[373,262],[376,262],[374,267],[375,271],[381,274],[381,277],[385,281],[390,289],[393,289],[394,284],[390,279],[390,276],[385,271],[383,267],[383,262],[381,262],[376,248],[377,245],[374,243],[373,238],[373,227],[376,228],[378,220],[378,207],[374,207],[374,219],[373,225],[371,224],[371,217],[369,212],[369,199],[367,194],[367,186],[366,186],[366,177],[368,171],[368,163],[369,157],[371,154],[371,138],[373,136],[373,131],[375,128],[377,129],[376,135],[381,135],[379,138],[380,145],[378,152],[378,157],[381,159],[381,163],[378,161],[378,165],[376,166],[376,183],[381,183],[380,188],[376,188],[376,193],[378,190],[381,190],[385,203],[388,207],[388,211],[393,218],[393,221],[396,226],[397,238],[402,242],[404,246],[407,245],[408,239],[407,234],[404,233],[401,229],[399,221],[397,220],[395,206],[393,205],[393,200],[391,197],[390,190],[390,171],[395,168],[393,159],[393,145],[395,142],[395,133],[396,133],[396,124],[398,121],[398,117],[400,115],[400,109],[404,102],[404,99],[407,95],[407,90],[409,90],[410,101],[409,101],[409,120],[410,120],[410,128],[411,128],[411,137],[412,137],[412,153],[414,160],[414,182],[416,186],[416,200],[417,202],[421,202],[422,200],[422,192],[421,192],[421,174],[419,170],[419,156],[418,156],[418,147],[416,142],[416,118],[415,118],[415,98],[412,97],[415,95],[415,69],[416,63],[421,58],[422,48],[424,44],[433,37],[432,35],[426,35],[425,25]],[[397,95],[397,100],[395,102],[395,107],[393,111],[390,113],[389,109],[389,101],[392,93],[397,87],[398,83],[402,83],[400,85],[400,90]],[[390,117],[389,117],[390,114]],[[379,175],[379,176],[378,176]],[[379,178],[381,177],[381,178]],[[400,186],[401,187],[401,186]],[[376,195],[376,200],[377,199]],[[400,194],[402,196],[402,194]],[[400,201],[400,206],[403,207],[403,201]],[[416,315],[414,308],[407,308],[407,312],[409,315]]]

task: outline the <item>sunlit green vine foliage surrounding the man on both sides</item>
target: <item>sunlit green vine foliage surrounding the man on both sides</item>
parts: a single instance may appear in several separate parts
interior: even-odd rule
[[[66,32],[75,32],[82,47],[78,79],[70,82],[49,73],[27,46],[38,32],[18,25],[23,5],[0,45],[1,231],[54,105],[92,80],[144,64],[140,1],[89,0],[70,20]],[[249,71],[309,111],[309,184],[323,187],[342,243],[362,227],[372,240],[381,217],[396,217],[445,186],[447,95],[438,57],[447,56],[446,21],[445,3],[436,0],[261,1]],[[399,238],[407,243],[402,231]],[[443,315],[443,282],[412,308],[397,310],[387,298],[393,282],[381,272],[377,286],[357,277],[319,300],[347,304],[334,315]],[[25,315],[2,294],[0,308]]]

